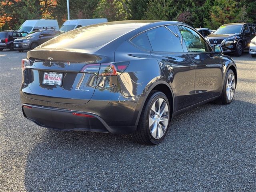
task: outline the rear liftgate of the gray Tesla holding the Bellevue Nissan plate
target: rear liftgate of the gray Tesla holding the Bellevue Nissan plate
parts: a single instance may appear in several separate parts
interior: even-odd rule
[[[28,56],[22,60],[22,89],[26,97],[42,101],[85,104],[92,98],[100,67],[111,67],[93,54],[39,50]]]

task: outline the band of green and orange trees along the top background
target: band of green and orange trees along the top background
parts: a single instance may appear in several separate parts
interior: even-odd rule
[[[67,19],[66,0],[0,0],[0,27],[18,29],[28,19]],[[177,20],[195,28],[256,23],[255,0],[70,0],[70,19]]]

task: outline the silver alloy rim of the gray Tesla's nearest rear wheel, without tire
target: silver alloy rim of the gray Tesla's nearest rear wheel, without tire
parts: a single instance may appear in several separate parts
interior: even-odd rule
[[[151,107],[149,129],[153,138],[160,139],[167,130],[169,108],[163,98],[158,98]]]

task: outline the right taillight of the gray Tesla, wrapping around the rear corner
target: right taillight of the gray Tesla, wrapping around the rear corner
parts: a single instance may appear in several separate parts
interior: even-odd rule
[[[117,76],[118,73],[124,72],[128,64],[129,62],[87,64],[80,72],[93,73],[98,76]]]

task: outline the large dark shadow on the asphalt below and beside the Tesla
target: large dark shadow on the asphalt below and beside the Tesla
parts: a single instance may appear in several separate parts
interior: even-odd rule
[[[157,146],[126,135],[45,129],[27,156],[26,191],[244,190],[255,109],[240,100],[200,106],[174,118]]]

